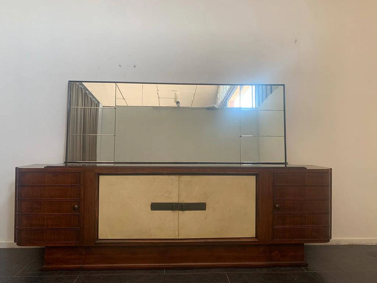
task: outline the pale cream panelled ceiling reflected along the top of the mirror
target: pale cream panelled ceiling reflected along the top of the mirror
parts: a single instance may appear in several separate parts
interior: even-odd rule
[[[215,104],[217,85],[139,83],[84,83],[103,106],[209,106]]]

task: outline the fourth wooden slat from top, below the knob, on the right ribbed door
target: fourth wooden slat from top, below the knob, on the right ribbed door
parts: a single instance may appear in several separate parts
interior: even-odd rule
[[[328,226],[330,214],[274,214],[274,226]]]

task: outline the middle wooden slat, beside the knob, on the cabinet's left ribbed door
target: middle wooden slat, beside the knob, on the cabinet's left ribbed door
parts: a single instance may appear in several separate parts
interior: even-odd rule
[[[38,214],[38,213],[77,213],[74,211],[74,205],[80,206],[80,201],[63,201],[63,200],[18,200],[17,212],[20,214]]]

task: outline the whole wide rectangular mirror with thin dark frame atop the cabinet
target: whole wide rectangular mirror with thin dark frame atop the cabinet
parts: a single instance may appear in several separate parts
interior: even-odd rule
[[[284,85],[69,82],[67,163],[286,163]]]

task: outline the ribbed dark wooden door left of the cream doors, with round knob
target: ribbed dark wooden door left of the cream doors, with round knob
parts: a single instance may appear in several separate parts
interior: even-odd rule
[[[80,172],[17,172],[15,241],[80,241]]]

